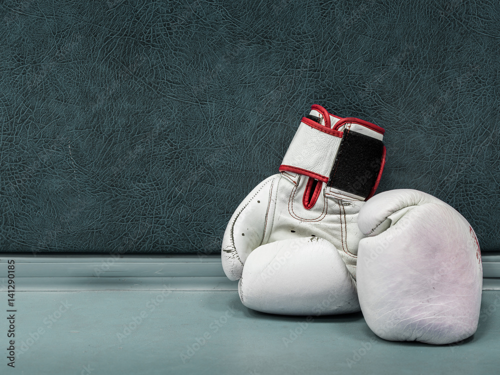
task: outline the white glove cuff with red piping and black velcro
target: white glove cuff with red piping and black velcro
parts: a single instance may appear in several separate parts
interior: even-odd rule
[[[384,129],[332,115],[313,104],[302,117],[279,171],[303,174],[350,197],[373,195],[385,161]]]

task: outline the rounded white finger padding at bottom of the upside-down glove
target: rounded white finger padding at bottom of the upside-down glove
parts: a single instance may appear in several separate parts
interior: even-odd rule
[[[257,247],[238,284],[248,308],[286,315],[359,311],[356,283],[338,250],[319,237],[290,238]]]

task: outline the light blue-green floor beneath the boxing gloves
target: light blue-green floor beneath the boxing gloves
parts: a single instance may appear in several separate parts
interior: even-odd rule
[[[483,291],[472,338],[442,346],[377,338],[360,313],[312,321],[258,313],[236,291],[25,291],[15,298],[15,368],[6,365],[3,318],[1,374],[500,373],[500,291]]]

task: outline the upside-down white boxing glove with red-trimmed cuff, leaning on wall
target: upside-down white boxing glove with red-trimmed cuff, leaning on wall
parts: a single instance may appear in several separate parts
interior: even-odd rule
[[[359,311],[357,215],[382,172],[384,130],[312,105],[279,166],[237,207],[222,266],[241,302],[276,314]]]

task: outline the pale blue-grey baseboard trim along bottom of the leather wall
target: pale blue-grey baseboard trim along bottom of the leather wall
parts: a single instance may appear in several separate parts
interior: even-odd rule
[[[14,260],[16,291],[237,290],[220,254],[0,253],[0,291]],[[500,290],[500,254],[482,256],[483,290]]]

